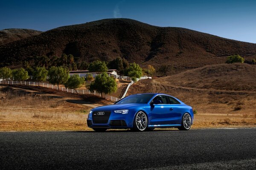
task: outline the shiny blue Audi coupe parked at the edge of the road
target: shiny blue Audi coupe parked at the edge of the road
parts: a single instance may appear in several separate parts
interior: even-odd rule
[[[90,110],[88,127],[95,131],[131,129],[134,131],[154,128],[177,127],[189,130],[194,119],[192,107],[167,94],[134,94],[113,105]]]

